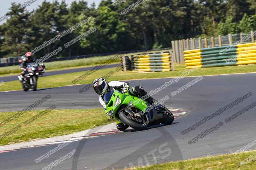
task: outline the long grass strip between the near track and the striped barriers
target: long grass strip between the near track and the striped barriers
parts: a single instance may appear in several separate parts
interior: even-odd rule
[[[91,75],[82,79],[78,84],[89,84],[95,78],[104,77],[108,73],[112,72],[107,81],[112,80],[133,80],[133,79],[145,79],[145,78],[167,78],[167,77],[177,77],[180,76],[184,71],[187,71],[185,65],[176,65],[174,71],[166,72],[137,72],[137,71],[127,71],[127,72],[117,72],[116,68],[100,69]],[[256,72],[256,65],[238,65],[238,66],[226,66],[226,67],[211,67],[211,68],[200,68],[191,72],[188,76],[203,76],[203,75],[216,75],[216,74],[231,74],[231,73],[249,73]],[[72,81],[80,76],[84,72],[75,72],[69,74],[53,75],[47,77],[40,77],[38,79],[37,88],[52,88],[65,85],[73,85]],[[122,75],[122,76],[120,76]],[[1,81],[1,79],[0,79]],[[0,92],[9,90],[22,90],[19,81],[4,82],[0,86]]]

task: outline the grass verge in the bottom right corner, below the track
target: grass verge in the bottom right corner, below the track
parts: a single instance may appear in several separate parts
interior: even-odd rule
[[[252,159],[253,157],[254,159]],[[249,159],[248,163],[241,165],[240,163],[247,158]],[[135,167],[131,168],[131,170],[180,170],[181,167],[182,170],[249,170],[255,169],[255,158],[256,151],[252,151],[238,154],[226,154],[219,156],[189,159],[184,161],[175,161],[146,167]]]

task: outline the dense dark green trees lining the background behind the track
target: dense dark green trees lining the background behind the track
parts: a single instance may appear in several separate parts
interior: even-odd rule
[[[171,46],[172,40],[226,35],[256,30],[255,0],[147,0],[127,14],[119,13],[137,0],[113,5],[102,0],[96,8],[87,1],[46,2],[35,14],[12,3],[10,17],[0,26],[0,56],[18,56],[42,45],[76,23],[92,17],[85,25],[36,53],[41,57],[58,47],[58,56],[156,49]],[[68,48],[64,44],[89,29],[97,31]]]

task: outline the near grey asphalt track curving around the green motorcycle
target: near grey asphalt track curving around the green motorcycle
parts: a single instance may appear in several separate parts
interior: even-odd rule
[[[180,79],[179,82],[175,82],[153,96],[159,100],[165,95],[169,95],[170,99],[165,102],[166,106],[180,108],[188,112],[187,116],[174,120],[172,125],[76,141],[39,163],[35,163],[34,159],[55,148],[58,144],[0,153],[0,169],[42,169],[73,149],[76,149],[76,153],[72,158],[66,159],[52,169],[118,169],[125,166],[163,163],[171,160],[235,152],[255,140],[256,108],[250,109],[228,123],[225,122],[225,119],[256,101],[255,76],[255,73],[250,73],[203,77],[203,80],[171,97],[171,92],[196,77]],[[169,80],[168,78],[136,80],[130,81],[130,83],[131,85],[142,85],[145,90],[150,91]],[[92,89],[82,94],[78,93],[82,87],[84,85],[40,89],[36,92],[1,92],[1,111],[21,110],[48,94],[52,98],[36,109],[44,109],[53,104],[58,109],[100,107],[98,96]],[[183,130],[199,122],[205,116],[211,115],[248,92],[252,92],[252,96],[187,134],[181,134]],[[194,144],[188,144],[189,140],[219,122],[223,122],[219,129],[212,131]],[[255,146],[250,149],[255,149]],[[237,164],[239,163],[237,162]],[[180,165],[180,169],[183,167]]]

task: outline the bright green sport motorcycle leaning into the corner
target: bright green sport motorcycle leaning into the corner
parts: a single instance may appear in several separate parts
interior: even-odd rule
[[[133,129],[144,130],[149,126],[164,124],[170,125],[174,116],[170,110],[162,105],[152,106],[146,101],[118,90],[104,95],[106,114],[109,119],[116,119]]]

